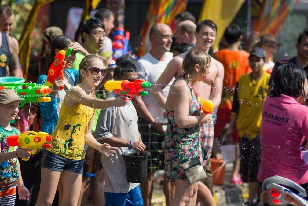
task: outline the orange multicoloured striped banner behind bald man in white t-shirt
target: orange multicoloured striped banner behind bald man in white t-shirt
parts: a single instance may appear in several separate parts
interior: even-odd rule
[[[148,51],[146,41],[149,38],[148,33],[151,26],[158,22],[171,26],[176,14],[186,10],[187,2],[188,0],[151,0],[148,13],[140,31],[140,57]]]

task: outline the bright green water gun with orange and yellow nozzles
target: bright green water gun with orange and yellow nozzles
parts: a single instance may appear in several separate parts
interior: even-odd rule
[[[25,88],[22,88],[25,87]],[[20,106],[22,107],[25,103],[33,102],[50,102],[50,97],[45,97],[50,94],[51,88],[36,83],[0,83],[1,89],[13,89],[17,92],[17,95],[24,99],[20,100]]]

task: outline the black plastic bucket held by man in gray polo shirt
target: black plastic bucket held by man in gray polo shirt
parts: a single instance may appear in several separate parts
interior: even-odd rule
[[[138,155],[137,150],[123,152],[128,182],[141,183],[147,181],[148,156],[150,154],[149,151],[144,151]]]

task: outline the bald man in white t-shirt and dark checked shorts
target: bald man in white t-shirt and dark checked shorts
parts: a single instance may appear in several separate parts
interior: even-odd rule
[[[150,29],[151,48],[148,53],[138,59],[136,67],[139,78],[154,84],[165,70],[167,64],[173,58],[170,47],[172,43],[171,28],[163,23],[156,23]],[[173,79],[174,80],[174,79]],[[172,81],[164,90],[168,95]],[[133,103],[140,118],[138,120],[139,131],[146,150],[151,152],[148,158],[147,181],[141,183],[141,192],[144,205],[149,206],[152,197],[152,184],[155,171],[164,169],[164,152],[162,142],[164,141],[163,125],[167,124],[164,117],[164,109],[156,102],[151,92],[152,88],[146,88],[148,96],[135,96]],[[164,184],[164,192],[166,184]],[[166,193],[165,193],[166,194]]]

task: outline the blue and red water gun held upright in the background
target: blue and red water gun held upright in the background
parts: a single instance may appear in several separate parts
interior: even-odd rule
[[[132,52],[131,48],[128,46],[129,38],[130,33],[128,31],[124,33],[124,28],[118,27],[116,29],[112,42],[113,60],[126,55],[128,50],[130,50],[130,53]]]

